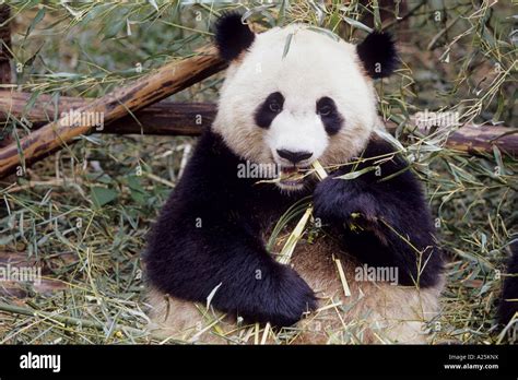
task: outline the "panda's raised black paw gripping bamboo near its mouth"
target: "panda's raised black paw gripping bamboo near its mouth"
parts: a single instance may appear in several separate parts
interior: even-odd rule
[[[386,216],[379,200],[366,183],[358,180],[323,179],[316,186],[313,204],[315,217],[330,224],[353,221],[377,223]]]

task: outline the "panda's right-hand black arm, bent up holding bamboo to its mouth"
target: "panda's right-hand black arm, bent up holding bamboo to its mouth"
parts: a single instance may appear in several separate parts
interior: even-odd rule
[[[373,266],[396,266],[399,283],[433,286],[442,252],[421,187],[390,145],[372,140],[358,166],[346,166],[317,185],[315,215],[335,231],[346,250]],[[377,165],[379,158],[389,157]],[[374,164],[376,163],[376,164]],[[354,179],[335,177],[378,166]],[[366,169],[368,170],[368,169]]]

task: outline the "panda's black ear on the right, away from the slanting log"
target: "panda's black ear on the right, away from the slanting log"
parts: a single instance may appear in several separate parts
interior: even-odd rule
[[[398,67],[396,44],[389,33],[370,33],[356,46],[356,51],[370,78],[389,76]]]

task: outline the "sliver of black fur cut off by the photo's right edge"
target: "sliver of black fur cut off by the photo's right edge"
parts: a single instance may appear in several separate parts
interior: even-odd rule
[[[498,322],[506,325],[518,312],[518,240],[510,246],[511,257],[507,264],[507,274],[498,307]]]

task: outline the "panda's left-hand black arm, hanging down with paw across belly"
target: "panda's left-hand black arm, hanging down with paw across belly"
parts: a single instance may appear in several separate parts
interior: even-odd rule
[[[235,157],[213,136],[200,141],[149,239],[146,275],[161,292],[238,313],[247,321],[291,325],[315,308],[309,286],[267,252],[243,191]]]

